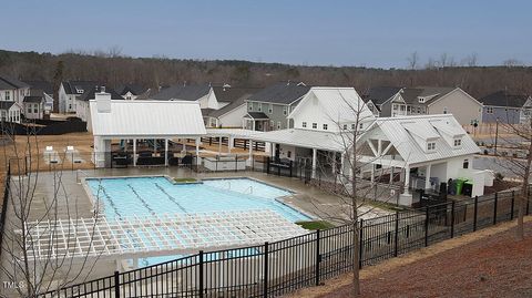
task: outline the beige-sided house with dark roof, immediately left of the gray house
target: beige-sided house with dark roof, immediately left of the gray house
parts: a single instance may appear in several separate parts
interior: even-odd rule
[[[242,127],[247,113],[246,100],[258,89],[231,85],[213,86],[219,109],[202,109],[206,127]]]

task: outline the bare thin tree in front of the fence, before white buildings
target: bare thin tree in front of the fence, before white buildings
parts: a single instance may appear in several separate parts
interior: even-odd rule
[[[352,233],[352,288],[351,297],[360,296],[360,274],[359,274],[359,237],[360,237],[360,218],[369,213],[375,212],[376,201],[388,203],[393,189],[393,175],[399,173],[391,173],[390,167],[386,165],[375,173],[374,163],[385,156],[386,150],[383,146],[389,144],[379,144],[377,154],[371,154],[365,140],[365,135],[369,134],[375,126],[372,125],[375,117],[368,107],[361,103],[354,103],[342,97],[345,103],[344,115],[330,120],[337,126],[339,133],[337,134],[336,145],[340,148],[340,156],[337,153],[326,154],[321,156],[323,162],[317,166],[317,171],[323,176],[328,176],[328,182],[320,183],[319,187],[324,191],[335,195],[338,198],[337,208],[326,209],[319,204],[314,204],[317,212],[323,218],[349,225]],[[346,121],[348,120],[348,121]],[[335,142],[335,141],[334,141]],[[391,145],[390,145],[391,147]],[[339,158],[338,158],[339,157]],[[386,162],[381,162],[386,164]],[[372,177],[364,179],[364,172],[371,169]],[[391,176],[391,178],[390,178]],[[379,184],[378,181],[385,178],[387,183]],[[389,182],[389,183],[388,183]]]

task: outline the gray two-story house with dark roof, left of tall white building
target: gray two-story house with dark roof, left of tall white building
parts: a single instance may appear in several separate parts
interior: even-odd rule
[[[263,132],[294,127],[288,115],[309,90],[304,83],[282,82],[258,91],[247,100],[243,127]]]

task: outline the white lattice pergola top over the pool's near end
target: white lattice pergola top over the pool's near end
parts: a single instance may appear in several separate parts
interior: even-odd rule
[[[246,247],[308,233],[268,209],[130,216],[117,220],[58,219],[25,225],[31,234],[25,247],[32,259],[188,255],[201,249]]]

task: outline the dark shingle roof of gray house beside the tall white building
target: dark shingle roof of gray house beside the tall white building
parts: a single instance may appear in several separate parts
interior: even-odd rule
[[[249,96],[248,101],[290,104],[301,99],[310,90],[303,83],[282,82],[265,88]]]

